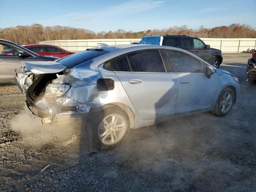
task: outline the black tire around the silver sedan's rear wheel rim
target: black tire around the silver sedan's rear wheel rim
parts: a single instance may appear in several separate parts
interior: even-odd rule
[[[122,116],[122,120],[125,121],[125,131],[124,135],[118,142],[115,142],[114,144],[105,144],[102,139],[100,138],[98,131],[100,129],[100,124],[104,120],[104,118],[110,116],[111,114],[117,114]],[[86,126],[86,129],[89,129],[88,132],[92,135],[92,142],[94,145],[101,149],[101,150],[109,150],[112,148],[115,148],[116,146],[120,145],[124,140],[126,140],[128,133],[130,131],[130,120],[126,112],[124,112],[122,109],[116,106],[107,106],[100,110],[97,110],[92,116],[92,118],[88,121],[88,125]],[[105,127],[105,126],[104,126]],[[118,134],[118,133],[117,133]],[[89,135],[90,136],[90,135]],[[113,136],[113,134],[112,134]]]

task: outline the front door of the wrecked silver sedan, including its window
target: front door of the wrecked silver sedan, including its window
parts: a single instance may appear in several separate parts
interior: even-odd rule
[[[200,60],[178,51],[166,51],[170,67],[178,82],[177,114],[206,110],[214,105],[216,94],[215,75],[207,78]]]

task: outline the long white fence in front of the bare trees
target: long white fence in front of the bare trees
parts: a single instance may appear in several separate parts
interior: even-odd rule
[[[200,38],[212,48],[220,49],[224,53],[239,53],[256,48],[256,38]],[[71,52],[79,52],[87,48],[96,47],[97,43],[108,45],[131,44],[140,39],[90,39],[90,40],[52,40],[42,41],[40,44],[59,46]]]

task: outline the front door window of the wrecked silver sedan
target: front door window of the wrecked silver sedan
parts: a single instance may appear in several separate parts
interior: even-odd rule
[[[174,71],[177,73],[204,73],[200,61],[181,52],[167,52]]]

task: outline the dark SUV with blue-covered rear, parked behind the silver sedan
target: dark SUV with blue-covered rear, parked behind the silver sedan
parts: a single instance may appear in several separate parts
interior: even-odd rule
[[[210,48],[210,45],[206,45],[199,38],[186,35],[146,36],[140,40],[139,44],[182,48],[192,52],[216,68],[219,68],[223,60],[221,50]]]

